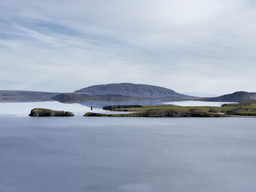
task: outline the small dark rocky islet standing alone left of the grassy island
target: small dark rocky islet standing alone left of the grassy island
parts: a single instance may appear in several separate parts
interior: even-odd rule
[[[54,111],[51,109],[35,108],[31,110],[29,116],[74,116],[69,111]]]

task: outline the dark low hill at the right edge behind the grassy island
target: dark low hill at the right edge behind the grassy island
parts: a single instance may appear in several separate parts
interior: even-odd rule
[[[256,93],[234,92],[232,94],[222,95],[220,97],[205,98],[203,100],[221,102],[246,102],[256,100]]]

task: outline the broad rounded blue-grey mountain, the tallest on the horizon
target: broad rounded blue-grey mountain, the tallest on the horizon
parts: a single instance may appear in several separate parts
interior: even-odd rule
[[[122,97],[142,97],[142,98],[189,98],[191,96],[174,92],[168,88],[160,86],[152,86],[148,84],[132,84],[132,83],[113,83],[89,86],[74,93],[86,95],[122,95]]]

